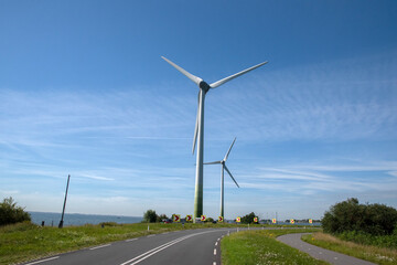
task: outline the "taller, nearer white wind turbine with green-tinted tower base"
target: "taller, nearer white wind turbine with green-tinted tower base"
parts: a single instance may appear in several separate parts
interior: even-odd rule
[[[185,75],[187,78],[193,81],[200,88],[198,91],[198,107],[197,107],[197,116],[196,116],[196,124],[194,129],[194,138],[193,138],[193,148],[192,152],[194,153],[195,145],[197,141],[197,159],[196,159],[196,172],[195,172],[195,190],[194,190],[194,219],[195,222],[196,218],[200,218],[203,214],[203,157],[204,157],[204,99],[205,94],[211,88],[216,88],[226,82],[229,82],[230,80],[234,80],[245,73],[248,73],[249,71],[253,71],[259,66],[262,66],[267,62],[257,64],[253,67],[249,67],[247,70],[244,70],[242,72],[238,72],[237,74],[230,75],[228,77],[225,77],[223,80],[219,80],[215,83],[212,83],[208,85],[205,81],[202,78],[189,73],[184,68],[178,66],[167,57],[161,56],[165,62],[171,64],[173,67],[175,67],[179,72],[181,72],[183,75]]]

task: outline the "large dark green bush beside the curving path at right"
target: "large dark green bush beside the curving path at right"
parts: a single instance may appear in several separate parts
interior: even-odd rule
[[[355,198],[332,205],[322,220],[324,231],[331,234],[354,231],[360,235],[390,235],[396,225],[396,209],[377,203],[360,204]]]

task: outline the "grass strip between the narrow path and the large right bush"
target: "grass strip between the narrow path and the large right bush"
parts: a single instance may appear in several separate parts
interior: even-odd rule
[[[302,237],[302,240],[323,248],[340,252],[376,264],[397,264],[397,250],[342,241],[337,237],[324,233],[305,235]]]

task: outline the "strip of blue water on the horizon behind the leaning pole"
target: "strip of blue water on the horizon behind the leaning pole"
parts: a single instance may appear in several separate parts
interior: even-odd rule
[[[42,221],[46,226],[57,226],[61,221],[61,213],[51,212],[29,212],[32,222],[41,225]],[[84,224],[99,224],[103,222],[116,223],[140,223],[143,218],[139,216],[118,216],[118,215],[98,215],[98,214],[81,214],[81,213],[65,213],[64,226],[67,225],[84,225]]]

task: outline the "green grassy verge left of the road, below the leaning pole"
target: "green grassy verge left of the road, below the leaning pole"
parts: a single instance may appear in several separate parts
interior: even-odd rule
[[[150,226],[149,231],[148,225]],[[233,226],[235,225],[107,223],[104,227],[100,225],[83,225],[57,229],[20,223],[0,227],[0,264],[22,263],[84,247],[169,231]]]

